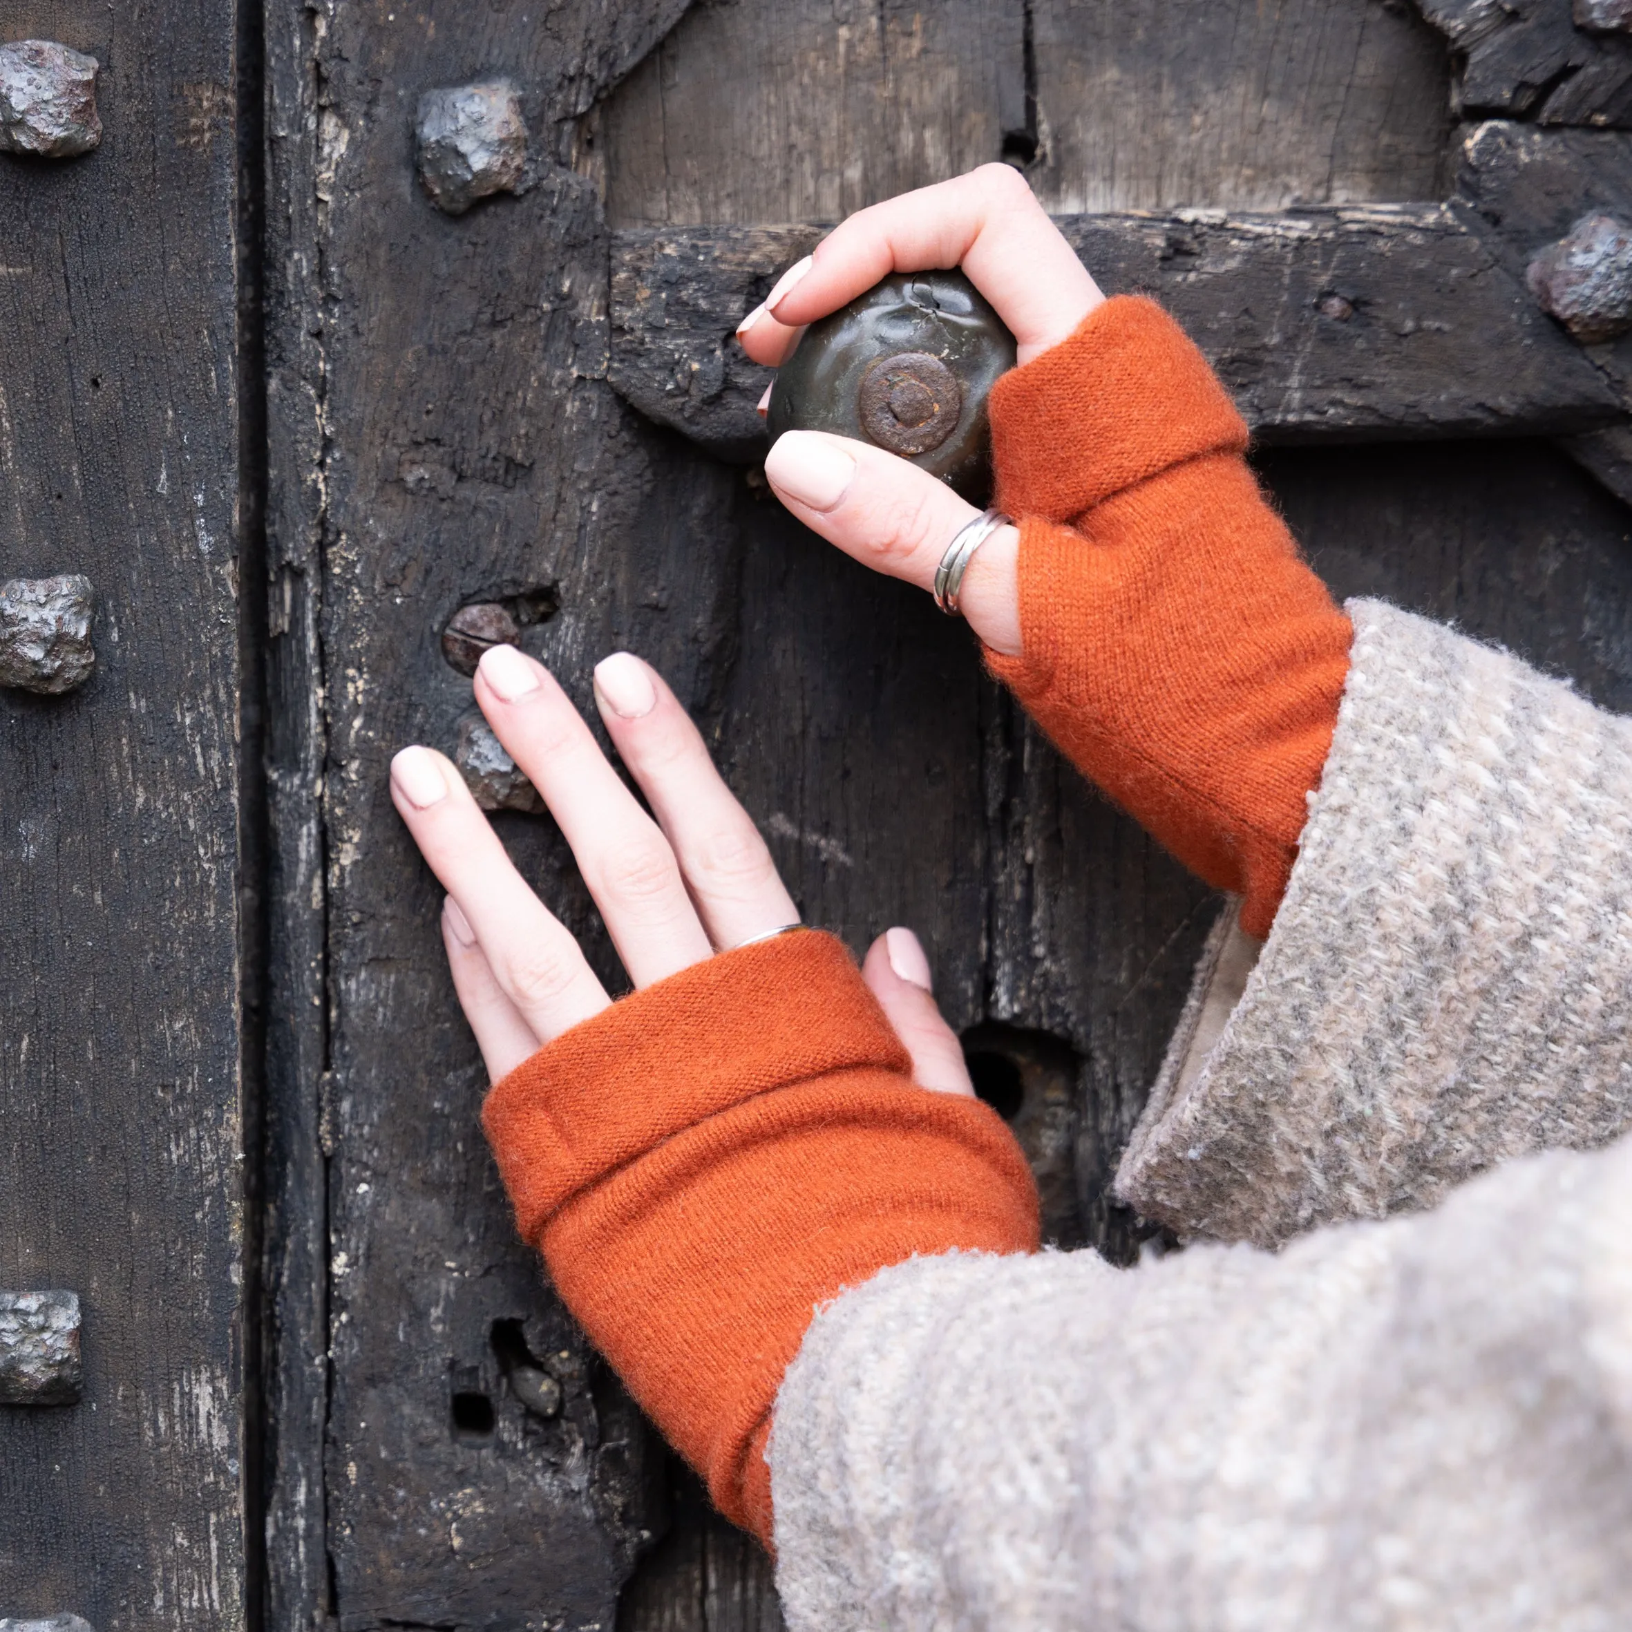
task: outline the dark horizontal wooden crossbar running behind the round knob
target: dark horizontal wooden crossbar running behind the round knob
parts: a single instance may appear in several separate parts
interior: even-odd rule
[[[1061,219],[1108,292],[1154,294],[1265,441],[1567,431],[1619,400],[1446,206]],[[733,331],[819,227],[633,228],[612,269],[615,388],[723,459],[762,457],[772,370]]]

